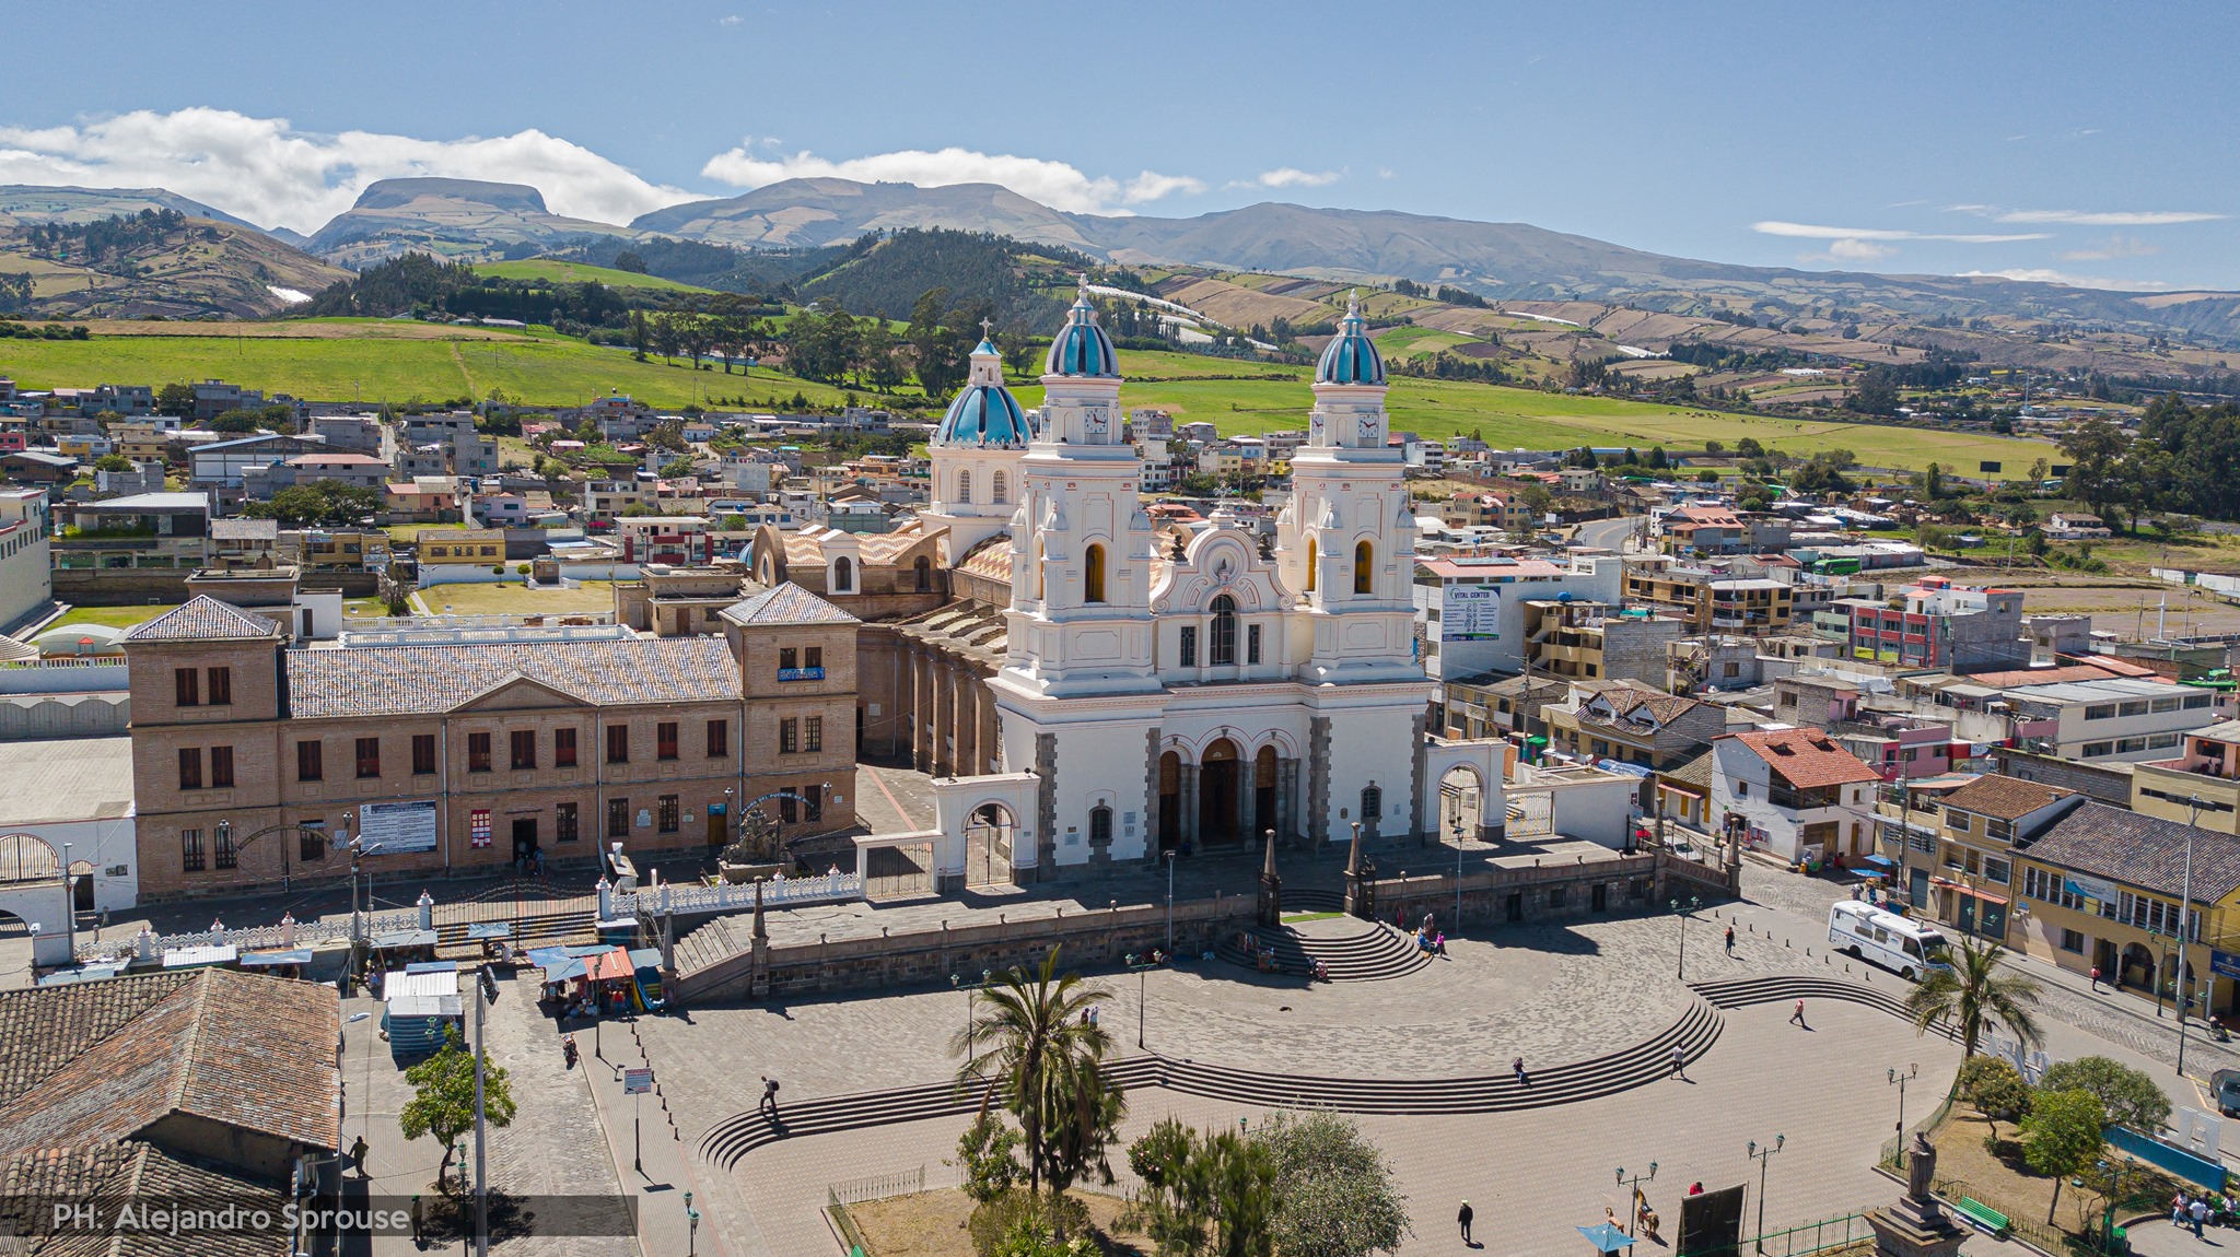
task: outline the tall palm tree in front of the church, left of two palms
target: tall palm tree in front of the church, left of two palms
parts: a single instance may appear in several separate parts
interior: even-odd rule
[[[961,1083],[992,1078],[1004,1107],[1019,1118],[1028,1190],[1064,1190],[1082,1170],[1111,1181],[1104,1145],[1122,1114],[1120,1091],[1104,1083],[1113,1040],[1084,1013],[1111,1000],[1080,973],[1057,973],[1057,946],[1033,971],[1012,966],[981,991],[983,1009],[950,1038],[961,1056]]]

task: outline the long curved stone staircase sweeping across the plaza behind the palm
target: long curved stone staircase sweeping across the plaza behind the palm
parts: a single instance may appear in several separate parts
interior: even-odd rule
[[[1165,1087],[1192,1096],[1281,1109],[1337,1109],[1351,1114],[1492,1114],[1572,1105],[1628,1091],[1667,1078],[1673,1049],[1696,1060],[1718,1040],[1718,1009],[1691,1002],[1687,1013],[1662,1033],[1633,1047],[1530,1071],[1478,1078],[1304,1078],[1230,1069],[1165,1056],[1129,1056],[1107,1067],[1113,1087],[1133,1091]],[[759,1112],[737,1114],[708,1130],[699,1154],[710,1165],[730,1170],[748,1152],[784,1138],[838,1134],[894,1123],[965,1116],[979,1109],[983,1085],[930,1083],[892,1091],[820,1096],[782,1105],[771,1118]]]

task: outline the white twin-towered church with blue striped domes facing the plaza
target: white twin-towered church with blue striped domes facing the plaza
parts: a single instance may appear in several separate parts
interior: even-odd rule
[[[1499,834],[1501,745],[1427,731],[1413,510],[1357,309],[1315,369],[1272,537],[1225,510],[1154,526],[1086,291],[1042,385],[1028,416],[981,342],[932,438],[921,526],[945,530],[948,566],[1010,566],[1001,662],[979,682],[995,745],[977,763],[997,772],[934,781],[925,839],[945,888],[1257,845],[1270,830],[1288,848],[1342,843],[1355,825],[1436,841],[1463,792],[1472,837]]]

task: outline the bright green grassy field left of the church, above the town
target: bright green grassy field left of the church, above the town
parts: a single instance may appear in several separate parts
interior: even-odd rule
[[[161,327],[161,324],[157,324]],[[188,327],[188,324],[179,324]],[[217,327],[217,324],[206,324]],[[838,405],[844,389],[813,385],[771,369],[692,371],[685,360],[634,362],[627,349],[603,349],[551,333],[466,338],[394,338],[388,324],[244,324],[305,327],[325,335],[94,335],[92,340],[0,340],[0,376],[27,389],[92,387],[103,380],[166,385],[224,378],[318,400],[435,403],[504,391],[533,405],[582,405],[612,391],[659,407],[681,407],[717,396],[746,396],[762,405],[795,391],[818,405]],[[358,329],[370,335],[361,335]],[[414,327],[414,324],[405,324]]]

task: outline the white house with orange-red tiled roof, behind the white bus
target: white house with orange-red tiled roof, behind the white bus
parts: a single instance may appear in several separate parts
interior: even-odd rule
[[[1882,776],[1819,729],[1758,729],[1711,743],[1720,832],[1785,861],[1875,854]]]

